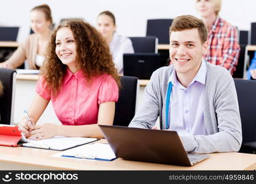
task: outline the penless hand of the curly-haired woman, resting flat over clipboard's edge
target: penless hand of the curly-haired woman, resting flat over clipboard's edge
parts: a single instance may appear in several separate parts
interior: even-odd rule
[[[41,140],[59,136],[59,129],[60,125],[55,125],[52,123],[36,125],[34,126],[33,131],[31,131],[31,137]]]

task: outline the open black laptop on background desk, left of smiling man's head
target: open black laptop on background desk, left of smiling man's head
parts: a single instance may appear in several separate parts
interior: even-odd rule
[[[153,71],[161,67],[159,53],[123,54],[123,75],[150,79]]]

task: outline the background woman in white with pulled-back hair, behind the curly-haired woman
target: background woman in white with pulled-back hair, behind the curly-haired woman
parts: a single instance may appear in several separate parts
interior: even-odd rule
[[[134,53],[133,44],[128,37],[115,33],[115,17],[109,11],[101,12],[97,20],[98,31],[103,35],[111,49],[111,54],[118,74],[123,74],[123,54]]]

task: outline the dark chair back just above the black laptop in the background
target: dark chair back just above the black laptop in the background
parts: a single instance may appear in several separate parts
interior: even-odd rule
[[[130,37],[130,39],[135,53],[157,53],[157,37]]]

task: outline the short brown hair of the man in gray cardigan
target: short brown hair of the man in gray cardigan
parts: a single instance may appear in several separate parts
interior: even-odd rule
[[[208,36],[208,29],[206,28],[202,20],[192,15],[182,15],[176,17],[169,28],[169,35],[171,35],[172,31],[183,31],[185,29],[198,29],[202,44],[206,42]]]

